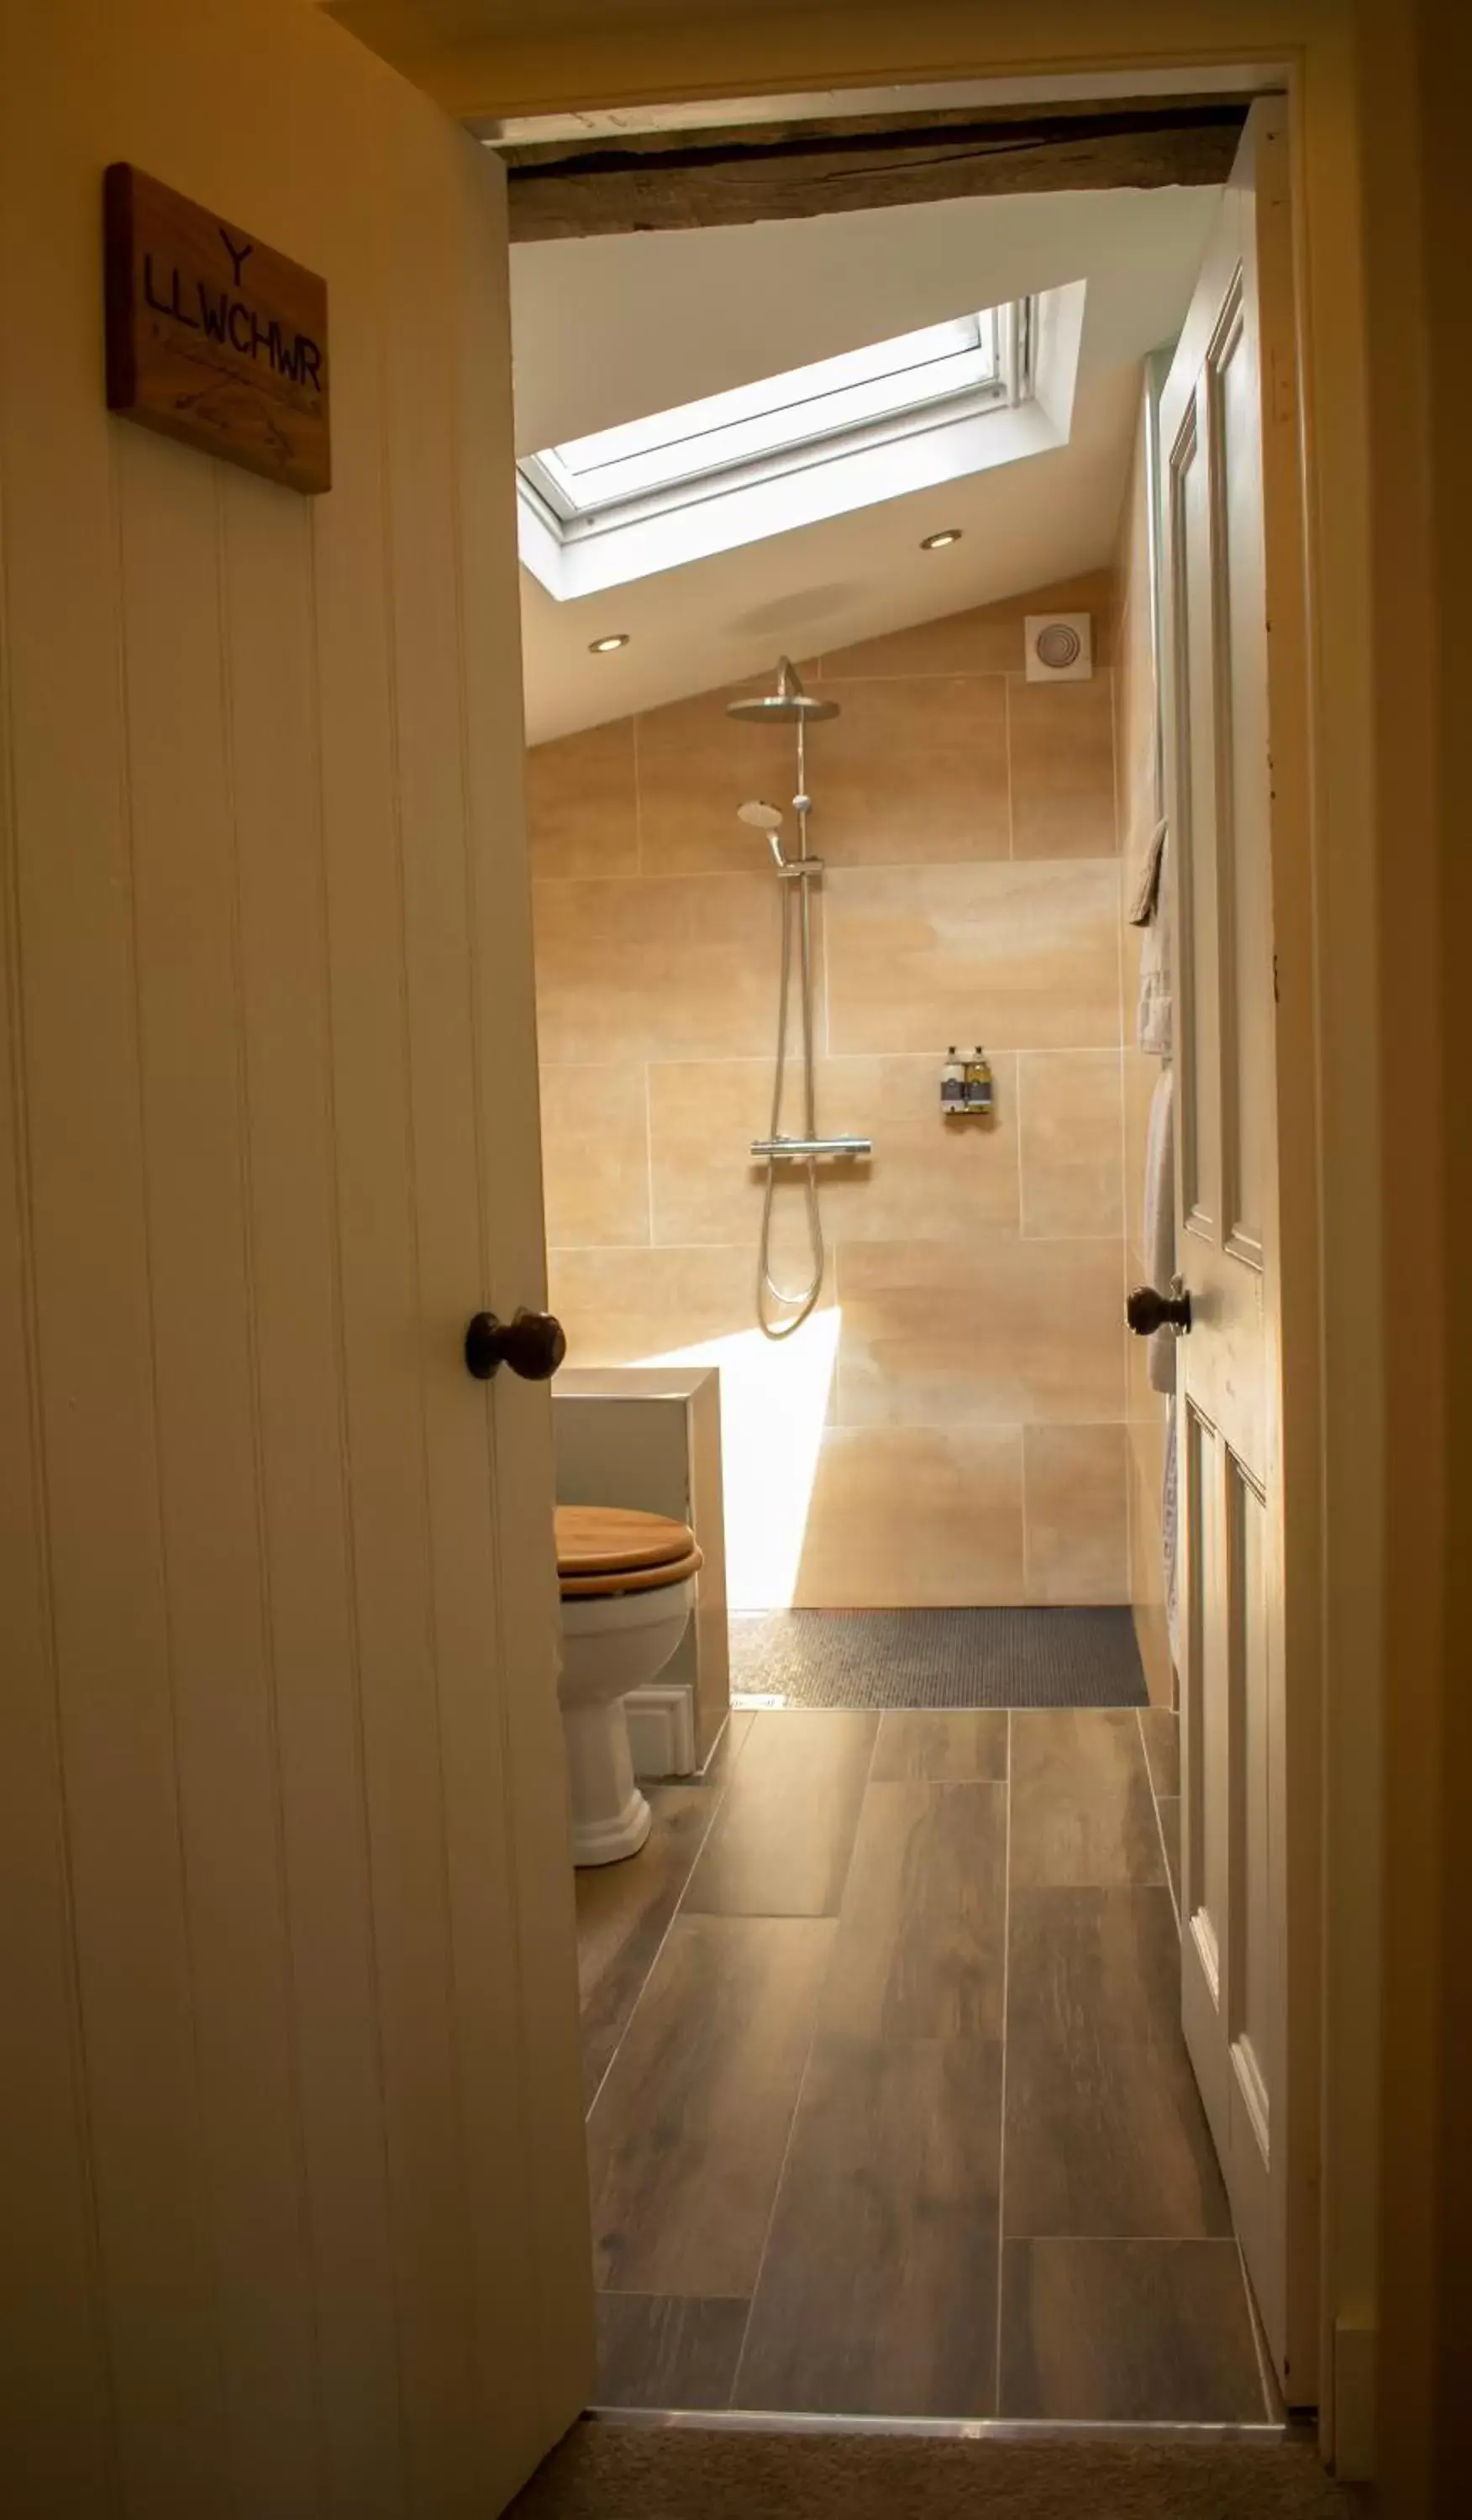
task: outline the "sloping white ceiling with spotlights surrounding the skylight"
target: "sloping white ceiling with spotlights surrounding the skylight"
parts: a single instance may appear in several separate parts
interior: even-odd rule
[[[529,741],[761,673],[784,648],[842,648],[1109,559],[1139,360],[1180,328],[1215,204],[1215,189],[1051,192],[517,244],[519,451],[1089,282],[1066,449],[610,595],[560,605],[522,572]],[[965,539],[920,552],[940,524]],[[607,630],[630,645],[592,658]]]

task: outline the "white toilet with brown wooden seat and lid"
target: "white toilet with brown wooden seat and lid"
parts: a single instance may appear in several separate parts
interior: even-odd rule
[[[645,1688],[686,1633],[701,1550],[686,1522],[618,1504],[557,1507],[562,1593],[562,1731],[572,1794],[572,1862],[638,1855],[650,1807],[633,1782],[623,1701]]]

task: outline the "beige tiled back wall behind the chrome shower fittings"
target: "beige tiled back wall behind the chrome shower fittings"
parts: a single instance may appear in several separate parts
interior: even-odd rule
[[[1089,683],[1023,680],[1023,612],[1089,610]],[[723,1368],[731,1598],[1129,1600],[1122,948],[1107,575],[804,673],[827,1285],[754,1328],[781,887],[744,796],[791,728],[728,690],[529,756],[552,1300],[577,1363]],[[618,668],[615,668],[618,670]],[[983,1041],[996,1124],[940,1119]],[[799,1124],[796,1106],[786,1126]],[[776,1212],[802,1283],[802,1189]]]

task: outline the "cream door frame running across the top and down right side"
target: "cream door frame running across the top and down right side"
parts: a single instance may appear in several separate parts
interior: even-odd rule
[[[421,58],[413,76],[451,113],[469,118],[960,78],[1033,81],[1046,93],[1061,78],[1096,78],[1112,88],[1129,76],[1175,71],[1190,78],[1217,63],[1265,63],[1283,73],[1291,113],[1303,514],[1296,552],[1285,554],[1278,542],[1268,567],[1291,567],[1303,602],[1306,809],[1298,844],[1275,854],[1273,897],[1280,1003],[1298,1018],[1296,1192],[1313,1210],[1321,1263],[1328,1263],[1296,1288],[1293,1396],[1285,1391],[1301,1429],[1303,1482],[1291,1567],[1301,1603],[1296,1688],[1308,1698],[1321,1812],[1318,1847],[1301,1847],[1293,1872],[1301,1948],[1316,1958],[1323,2029],[1321,2444],[1343,2475],[1369,2475],[1379,2265],[1386,1358],[1376,1096],[1379,658],[1351,10],[1338,0],[1202,0],[1190,50],[1167,0],[1122,0],[1107,43],[1084,0],[1059,0],[1044,18],[1026,0],[998,0],[986,25],[943,0],[917,0],[900,18],[875,8],[781,23],[691,13],[678,28],[668,20],[605,23],[466,43],[441,63]]]

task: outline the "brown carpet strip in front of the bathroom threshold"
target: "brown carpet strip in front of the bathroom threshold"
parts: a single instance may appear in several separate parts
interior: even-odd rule
[[[902,2442],[577,2424],[509,2520],[1348,2520],[1301,2442]]]

